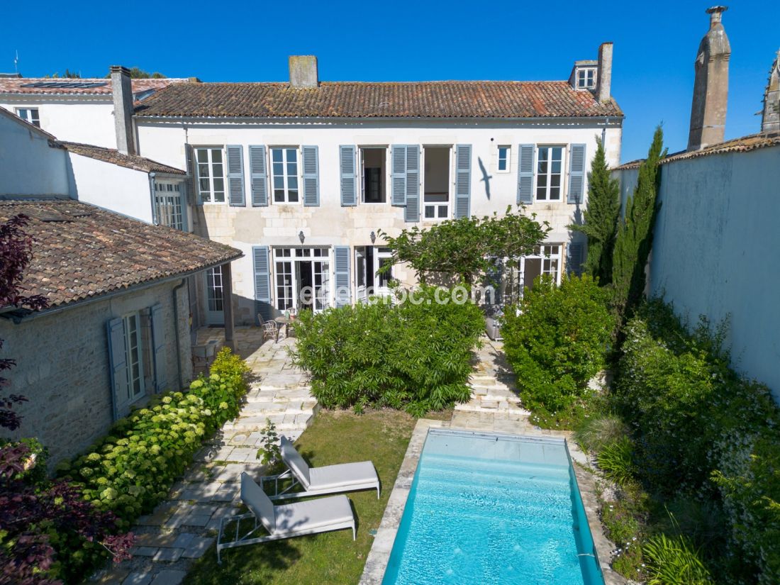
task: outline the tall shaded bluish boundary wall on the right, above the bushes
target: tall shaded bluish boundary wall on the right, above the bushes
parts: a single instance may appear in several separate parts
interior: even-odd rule
[[[780,147],[661,165],[651,292],[729,320],[732,364],[780,400]]]

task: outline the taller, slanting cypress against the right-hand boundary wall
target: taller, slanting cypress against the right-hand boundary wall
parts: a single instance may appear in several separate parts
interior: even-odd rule
[[[666,156],[663,144],[664,131],[658,126],[647,158],[640,165],[633,197],[626,202],[626,215],[619,223],[615,239],[612,286],[615,308],[624,320],[640,303],[644,293],[644,268],[653,246],[653,225],[658,213],[658,163]]]

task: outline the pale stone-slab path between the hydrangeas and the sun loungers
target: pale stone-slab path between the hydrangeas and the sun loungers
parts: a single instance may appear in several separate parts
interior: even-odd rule
[[[266,420],[295,439],[314,418],[317,401],[310,395],[305,375],[289,357],[293,339],[260,345],[258,332],[257,328],[236,330],[238,352],[254,374],[239,417],[197,453],[195,464],[174,484],[168,499],[138,520],[133,528],[137,537],[133,558],[102,570],[89,583],[180,583],[194,559],[214,543],[220,519],[237,513],[241,472],[261,475],[256,456]],[[219,340],[221,334],[221,329],[204,330],[198,342],[204,342],[204,335],[206,341],[209,336]]]

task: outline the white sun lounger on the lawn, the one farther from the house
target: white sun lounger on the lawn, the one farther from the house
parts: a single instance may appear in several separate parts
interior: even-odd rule
[[[220,564],[222,564],[222,550],[225,548],[243,547],[346,528],[352,528],[352,539],[355,540],[355,515],[346,495],[274,505],[260,486],[246,472],[243,472],[241,473],[241,501],[250,509],[249,513],[227,516],[219,522],[217,562]],[[246,519],[254,519],[254,527],[246,534],[239,534],[241,521]],[[225,523],[233,521],[236,522],[235,536],[232,541],[223,542]],[[268,532],[268,535],[253,537],[261,527]]]

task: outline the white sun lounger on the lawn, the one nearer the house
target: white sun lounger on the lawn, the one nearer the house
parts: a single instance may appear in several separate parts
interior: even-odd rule
[[[274,482],[272,500],[306,498],[312,495],[338,494],[342,491],[374,488],[377,490],[377,499],[379,499],[379,477],[377,470],[374,469],[374,463],[371,461],[310,467],[293,447],[293,443],[286,437],[281,439],[280,452],[287,470],[279,475],[261,478],[261,485],[264,481]],[[292,483],[279,491],[279,480],[282,482],[291,480]],[[303,488],[303,491],[293,491],[298,485]]]

